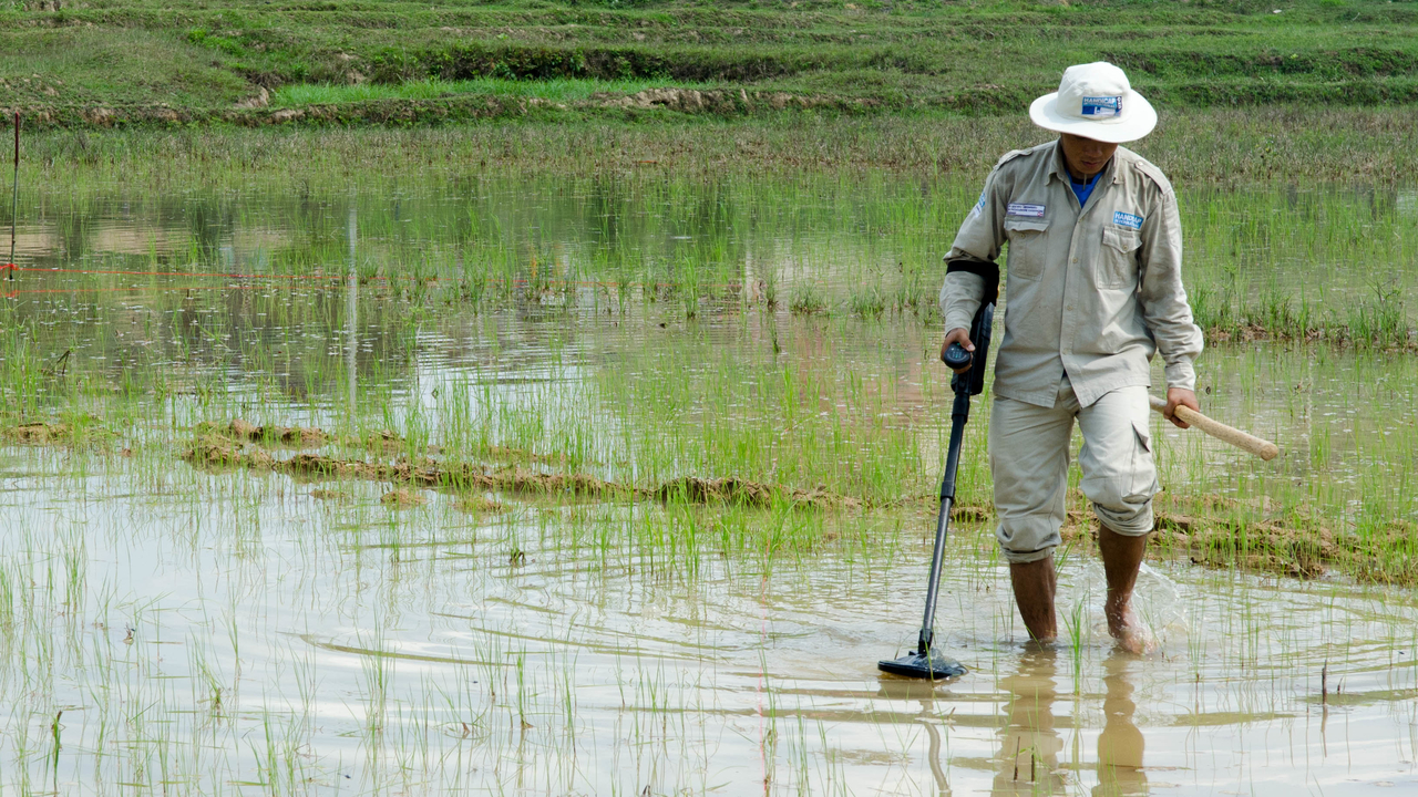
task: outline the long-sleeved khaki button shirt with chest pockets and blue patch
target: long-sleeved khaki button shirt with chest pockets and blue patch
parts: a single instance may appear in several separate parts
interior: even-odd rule
[[[1181,285],[1181,220],[1161,170],[1117,147],[1082,208],[1058,142],[1015,150],[986,179],[946,261],[994,262],[1005,241],[1004,340],[994,391],[1052,407],[1068,373],[1081,406],[1150,386],[1161,352],[1170,387],[1195,389],[1201,330]],[[946,275],[946,329],[970,329],[984,278]],[[1000,323],[995,322],[998,340]]]

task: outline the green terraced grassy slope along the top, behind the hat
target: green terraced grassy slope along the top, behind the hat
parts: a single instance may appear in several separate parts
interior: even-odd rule
[[[427,123],[509,96],[615,115],[632,95],[683,112],[993,113],[1056,85],[1062,67],[1103,58],[1170,108],[1353,106],[1418,98],[1415,30],[1412,3],[1360,0],[31,1],[0,11],[0,98],[67,126],[265,122],[268,105]],[[699,95],[642,95],[666,87]],[[370,101],[414,105],[390,116]]]

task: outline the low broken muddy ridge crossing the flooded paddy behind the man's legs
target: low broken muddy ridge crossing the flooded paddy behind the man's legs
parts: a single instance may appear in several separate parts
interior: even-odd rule
[[[879,511],[906,509],[926,515],[934,508],[934,495],[910,496],[891,502],[869,502],[825,489],[800,489],[786,485],[737,478],[681,476],[659,485],[638,486],[580,472],[554,472],[525,468],[525,462],[557,462],[554,457],[515,448],[488,447],[479,457],[505,465],[454,462],[440,458],[437,448],[408,455],[408,444],[394,433],[376,433],[366,440],[345,441],[311,427],[255,425],[234,420],[227,425],[203,424],[180,457],[199,468],[278,472],[303,481],[373,481],[389,482],[391,491],[383,503],[391,508],[425,502],[420,491],[438,489],[454,494],[459,508],[498,512],[503,505],[485,494],[526,498],[571,498],[577,501],[661,501],[695,505],[740,505],[749,508],[788,508],[808,511]],[[0,441],[11,445],[106,447],[116,434],[94,424],[26,423],[0,427]],[[369,458],[342,458],[298,451],[315,447],[363,450]],[[292,451],[295,451],[292,454]],[[130,455],[129,448],[115,450]],[[520,464],[519,464],[520,462]],[[349,498],[337,489],[319,488],[312,495],[322,499]],[[1072,495],[1071,505],[1086,505],[1082,495]],[[1316,579],[1330,572],[1361,581],[1414,584],[1418,563],[1414,540],[1418,526],[1394,522],[1360,535],[1295,508],[1272,505],[1269,499],[1245,502],[1215,495],[1157,496],[1154,557],[1184,557],[1205,567],[1239,567],[1248,572],[1275,573],[1297,579]],[[993,519],[988,506],[956,506],[953,516],[968,523]],[[1098,522],[1092,513],[1069,512],[1062,536],[1066,546],[1086,554],[1096,549]]]

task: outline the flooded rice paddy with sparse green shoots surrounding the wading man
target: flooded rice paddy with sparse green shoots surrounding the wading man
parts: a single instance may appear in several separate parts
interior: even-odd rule
[[[939,255],[977,190],[27,197],[0,318],[0,788],[1418,788],[1401,191],[1184,193],[1227,338],[1202,407],[1282,455],[1156,418],[1156,655],[1112,647],[1079,495],[1064,642],[1024,644],[981,401],[937,614],[970,674],[876,671],[915,642]]]

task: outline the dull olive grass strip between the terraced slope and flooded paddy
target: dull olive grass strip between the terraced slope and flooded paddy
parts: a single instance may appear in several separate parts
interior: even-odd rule
[[[441,184],[486,174],[881,172],[978,180],[1001,153],[1048,140],[1022,113],[781,112],[737,121],[658,115],[654,125],[547,108],[536,116],[410,130],[52,130],[24,139],[20,180],[81,194],[113,180],[156,189],[196,179],[207,186],[278,189],[374,187],[413,177]],[[1178,187],[1316,180],[1394,186],[1418,173],[1418,132],[1407,108],[1176,111],[1132,146]]]

